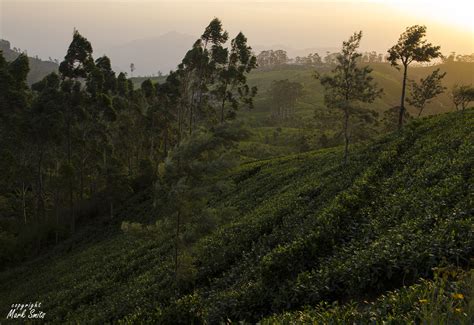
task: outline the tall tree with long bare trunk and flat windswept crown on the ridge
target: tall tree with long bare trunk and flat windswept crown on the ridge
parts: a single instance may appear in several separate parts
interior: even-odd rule
[[[403,65],[402,94],[400,97],[400,112],[398,118],[398,127],[403,126],[403,116],[405,108],[405,95],[408,66],[412,62],[429,62],[431,59],[441,56],[440,47],[427,43],[423,38],[426,35],[426,27],[414,25],[408,27],[400,35],[397,44],[388,50],[388,61],[399,69],[399,62]]]

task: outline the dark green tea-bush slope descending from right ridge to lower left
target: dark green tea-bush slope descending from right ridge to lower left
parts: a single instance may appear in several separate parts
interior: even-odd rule
[[[122,221],[152,222],[151,194],[142,192],[116,218],[1,273],[0,313],[40,301],[48,321],[88,324],[273,314],[267,323],[334,315],[472,323],[472,125],[472,109],[415,120],[358,145],[347,166],[341,148],[243,164],[227,175],[235,187],[213,200],[216,211],[233,212],[205,237],[184,230],[178,285],[172,234],[120,230]],[[444,266],[454,271],[431,281]],[[450,308],[433,309],[434,298]]]

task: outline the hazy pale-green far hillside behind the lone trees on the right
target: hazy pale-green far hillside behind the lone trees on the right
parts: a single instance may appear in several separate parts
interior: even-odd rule
[[[377,114],[376,121],[354,128],[353,141],[365,141],[385,133],[384,112],[398,106],[400,101],[402,73],[388,63],[374,63],[371,67],[374,78],[384,93],[374,103],[364,106]],[[422,116],[453,111],[454,105],[449,94],[453,85],[474,84],[474,64],[466,62],[410,67],[409,79],[419,80],[437,68],[446,72],[443,84],[447,89],[427,105]],[[329,69],[320,69],[319,72],[326,73]],[[255,108],[239,112],[239,119],[245,121],[253,132],[248,141],[241,143],[243,156],[249,160],[265,159],[342,143],[340,134],[342,122],[339,112],[325,107],[323,88],[313,75],[314,68],[298,65],[281,66],[270,70],[258,69],[249,74],[249,85],[257,86],[258,93],[255,97]],[[135,87],[139,87],[145,79],[133,78]],[[276,120],[272,116],[274,110],[268,90],[272,81],[282,79],[301,83],[303,95],[298,99],[291,118]],[[165,77],[155,77],[152,80],[163,83]],[[413,107],[407,104],[407,108],[412,115],[417,115]],[[328,140],[322,141],[325,139]]]

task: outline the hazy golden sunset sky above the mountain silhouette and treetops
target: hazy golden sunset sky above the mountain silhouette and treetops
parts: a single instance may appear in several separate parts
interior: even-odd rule
[[[474,53],[473,12],[472,0],[0,0],[0,38],[60,59],[74,28],[107,49],[170,31],[198,36],[218,17],[259,48],[339,48],[362,30],[362,50],[386,52],[407,26],[423,24],[443,53]]]

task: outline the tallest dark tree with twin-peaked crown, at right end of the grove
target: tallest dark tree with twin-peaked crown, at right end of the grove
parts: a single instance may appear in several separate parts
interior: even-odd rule
[[[257,89],[248,86],[246,74],[256,67],[256,58],[244,34],[239,33],[231,41],[230,49],[224,47],[227,39],[222,22],[213,19],[186,53],[178,70],[167,78],[170,89],[179,94],[178,142],[185,127],[191,135],[199,126],[233,118],[241,104],[253,105]]]

